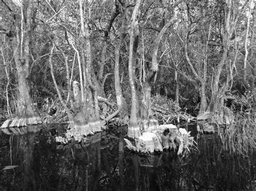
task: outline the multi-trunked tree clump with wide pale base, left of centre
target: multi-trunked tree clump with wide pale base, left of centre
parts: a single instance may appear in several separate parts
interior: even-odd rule
[[[80,135],[88,135],[91,133],[94,133],[96,131],[100,131],[101,128],[104,127],[104,124],[107,123],[112,117],[118,114],[118,110],[116,112],[113,112],[113,114],[109,115],[105,118],[104,114],[100,116],[100,108],[99,108],[99,101],[102,102],[102,105],[109,104],[112,105],[110,102],[107,101],[106,98],[104,98],[104,91],[103,86],[105,83],[105,79],[109,74],[106,74],[104,79],[102,80],[103,73],[104,73],[104,63],[101,62],[99,67],[99,73],[98,78],[95,73],[95,66],[93,65],[94,57],[93,57],[93,49],[95,47],[98,48],[98,46],[91,43],[91,36],[96,35],[95,33],[90,34],[90,20],[93,15],[91,15],[91,4],[84,1],[78,1],[78,5],[73,2],[69,2],[70,6],[72,6],[73,10],[72,16],[76,15],[79,20],[71,18],[67,18],[66,15],[70,13],[70,10],[65,10],[64,13],[57,12],[54,7],[55,4],[48,4],[50,6],[53,14],[51,18],[54,18],[51,20],[51,22],[46,23],[48,24],[48,27],[50,28],[50,32],[53,34],[52,36],[49,35],[49,39],[51,40],[51,43],[53,44],[52,51],[50,54],[50,68],[51,68],[51,75],[52,80],[55,84],[55,89],[57,91],[58,97],[60,102],[62,103],[63,107],[65,108],[66,112],[68,113],[69,122],[70,122],[70,128],[72,136],[80,136]],[[86,9],[83,9],[83,7],[86,7]],[[65,5],[60,4],[59,10],[64,10],[66,8]],[[112,14],[113,17],[109,20],[109,26],[104,31],[104,41],[103,41],[103,51],[102,51],[102,59],[101,61],[105,60],[105,54],[106,54],[106,48],[108,46],[107,36],[110,33],[112,23],[114,21],[114,18],[116,17],[117,10]],[[58,14],[57,14],[58,13]],[[90,17],[87,18],[85,15],[89,14]],[[54,17],[56,16],[56,17]],[[85,19],[86,18],[86,19]],[[49,19],[47,19],[49,20]],[[80,26],[79,32],[75,30],[74,25],[69,25],[69,22],[75,22]],[[57,31],[55,29],[56,22],[59,22],[58,26],[61,31]],[[64,31],[63,31],[64,30]],[[99,31],[102,31],[98,29]],[[60,34],[59,34],[60,33]],[[58,36],[56,35],[58,34]],[[64,35],[63,35],[64,34]],[[65,41],[60,43],[61,39],[65,38]],[[102,41],[100,41],[102,43]],[[59,87],[57,84],[57,80],[55,79],[54,74],[54,63],[53,59],[53,51],[57,48],[57,50],[62,54],[62,57],[64,59],[65,67],[66,67],[66,79],[69,88],[69,94],[72,94],[70,96],[70,105],[68,102],[64,102],[62,95],[59,91]],[[66,50],[68,47],[68,51]],[[64,51],[65,49],[65,51]],[[74,63],[77,63],[78,67],[76,67],[76,76],[73,76],[73,78],[77,79],[77,81],[73,81],[72,79],[72,73],[70,75],[70,69],[69,64],[67,61],[69,52],[74,52],[76,55],[76,60],[74,58]],[[55,56],[57,57],[57,56]],[[56,61],[55,61],[56,62]],[[73,66],[72,66],[73,70]],[[71,88],[69,87],[70,82],[73,81],[73,93],[71,93]],[[79,81],[79,82],[78,82]],[[100,95],[100,96],[98,96]],[[73,105],[73,106],[72,106]],[[100,120],[100,117],[104,119],[103,121]],[[78,136],[78,137],[79,137]]]

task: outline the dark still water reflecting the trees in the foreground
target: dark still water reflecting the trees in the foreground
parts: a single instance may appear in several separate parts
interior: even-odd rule
[[[59,145],[57,128],[0,132],[0,190],[253,190],[255,155],[221,149],[202,135],[186,158],[175,152],[143,156],[125,147],[122,129],[97,133],[83,144]],[[9,169],[5,169],[9,168]]]

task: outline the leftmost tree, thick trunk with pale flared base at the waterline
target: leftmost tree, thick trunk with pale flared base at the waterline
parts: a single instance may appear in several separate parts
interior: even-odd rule
[[[2,128],[14,126],[26,126],[42,123],[40,116],[35,111],[30,97],[29,75],[31,70],[30,44],[35,24],[35,2],[25,1],[21,4],[11,4],[12,8],[2,1],[11,12],[14,26],[1,25],[1,33],[5,33],[11,44],[14,61],[17,69],[17,115],[14,119],[8,119]],[[15,12],[18,12],[16,15]],[[11,123],[10,123],[11,122]],[[9,124],[10,123],[10,124]]]

